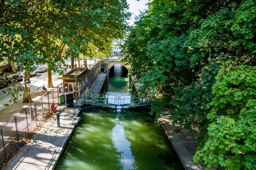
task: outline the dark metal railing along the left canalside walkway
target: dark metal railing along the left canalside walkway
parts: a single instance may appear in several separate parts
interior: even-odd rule
[[[50,105],[59,104],[60,93],[63,93],[62,83],[0,125],[0,163],[34,134],[37,126],[51,113]]]

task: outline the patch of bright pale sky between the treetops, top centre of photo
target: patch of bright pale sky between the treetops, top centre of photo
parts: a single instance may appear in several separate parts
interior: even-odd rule
[[[135,16],[140,14],[139,10],[144,11],[144,9],[148,9],[148,5],[145,5],[148,2],[149,0],[127,0],[127,3],[130,7],[128,11],[132,13],[131,20],[128,21],[130,25],[133,25]]]

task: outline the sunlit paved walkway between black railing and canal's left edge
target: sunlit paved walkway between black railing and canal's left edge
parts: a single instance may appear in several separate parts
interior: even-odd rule
[[[58,108],[59,110],[60,108]],[[5,170],[51,170],[61,156],[77,122],[73,117],[79,113],[78,109],[68,108],[61,111],[61,127],[56,125],[56,116],[47,121],[43,128],[34,135],[30,143],[21,147],[4,167]],[[56,153],[54,150],[56,149]]]

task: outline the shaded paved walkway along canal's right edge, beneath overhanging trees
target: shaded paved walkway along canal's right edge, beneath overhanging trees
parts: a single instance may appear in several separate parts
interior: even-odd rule
[[[193,128],[192,132],[185,132],[179,124],[172,124],[170,113],[164,111],[165,114],[157,120],[166,132],[172,146],[176,150],[181,163],[186,170],[203,169],[199,164],[193,162],[193,156],[197,150],[198,143],[195,140],[197,129]]]

